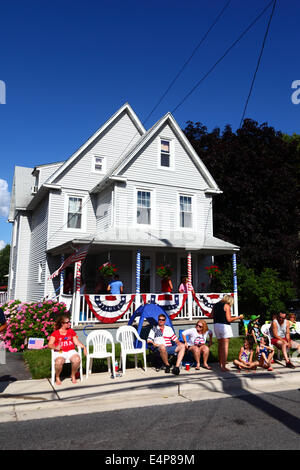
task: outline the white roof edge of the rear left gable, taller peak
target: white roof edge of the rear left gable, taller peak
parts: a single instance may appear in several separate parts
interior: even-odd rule
[[[82,152],[84,152],[93,142],[98,139],[101,134],[103,134],[106,129],[111,126],[123,113],[126,112],[128,116],[131,118],[133,124],[137,128],[137,132],[139,134],[145,134],[146,129],[144,128],[143,124],[131,108],[128,103],[125,103],[115,114],[113,114],[106,122],[101,126],[71,157],[69,157],[46,181],[46,183],[54,183],[55,180],[70,166],[72,163],[80,156]]]

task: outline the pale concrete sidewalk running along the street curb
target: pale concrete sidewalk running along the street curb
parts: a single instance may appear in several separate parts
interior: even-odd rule
[[[84,376],[76,385],[67,378],[61,386],[54,387],[49,379],[16,380],[6,383],[0,393],[0,422],[298,389],[299,358],[293,362],[296,369],[275,363],[274,372],[258,369],[239,373],[231,363],[228,364],[230,372],[222,373],[218,364],[211,364],[212,371],[182,369],[179,376],[156,372],[153,368],[147,372],[128,369],[125,375],[115,379],[102,372],[88,379]]]

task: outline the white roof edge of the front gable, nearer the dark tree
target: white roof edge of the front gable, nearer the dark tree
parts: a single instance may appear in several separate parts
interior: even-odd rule
[[[190,144],[189,140],[180,129],[179,125],[177,124],[176,120],[174,119],[173,115],[168,112],[165,114],[159,121],[157,121],[141,138],[136,142],[136,144],[125,154],[122,156],[111,169],[109,174],[97,184],[92,190],[91,193],[99,192],[101,188],[103,188],[109,180],[116,179],[117,177],[122,177],[122,170],[130,164],[130,162],[134,159],[135,155],[150,141],[153,135],[159,131],[165,124],[169,124],[170,127],[173,129],[175,135],[177,136],[178,140],[189,154],[191,160],[195,164],[196,168],[198,168],[199,172],[203,176],[204,180],[207,182],[207,189],[208,192],[215,192],[217,194],[222,193],[219,189],[217,183],[211,176],[210,172],[194,150],[193,146]]]

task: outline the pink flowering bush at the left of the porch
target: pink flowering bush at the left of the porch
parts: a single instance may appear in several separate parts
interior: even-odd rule
[[[10,352],[23,351],[28,338],[48,337],[54,330],[57,315],[67,313],[64,303],[45,300],[37,303],[10,301],[1,306],[6,315],[7,329],[3,334],[6,349]]]

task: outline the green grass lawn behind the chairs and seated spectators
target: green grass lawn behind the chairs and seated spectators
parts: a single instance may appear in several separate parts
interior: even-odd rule
[[[243,338],[231,338],[230,345],[229,345],[229,354],[228,354],[228,361],[231,362],[233,359],[237,359],[239,355],[240,348],[243,344]],[[120,345],[115,345],[116,351],[116,360],[119,361],[120,359]],[[147,350],[147,356],[149,351]],[[32,375],[33,379],[44,379],[51,377],[51,351],[49,349],[41,349],[41,350],[26,350],[24,351],[24,360],[29,368],[29,371]],[[218,342],[214,338],[212,347],[210,348],[210,355],[208,362],[218,362]],[[147,364],[149,362],[147,360]],[[67,364],[65,367],[68,367]],[[83,371],[85,372],[86,366],[86,359],[83,355]],[[143,358],[142,355],[138,356],[138,366],[143,366]],[[127,356],[127,364],[126,368],[133,368],[134,367],[134,356],[129,355]],[[104,372],[107,371],[107,359],[94,359],[93,362],[93,372]]]

